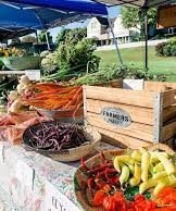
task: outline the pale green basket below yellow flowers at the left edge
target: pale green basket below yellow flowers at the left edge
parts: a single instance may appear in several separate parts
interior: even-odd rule
[[[0,60],[12,71],[36,70],[40,66],[40,57],[3,57]]]

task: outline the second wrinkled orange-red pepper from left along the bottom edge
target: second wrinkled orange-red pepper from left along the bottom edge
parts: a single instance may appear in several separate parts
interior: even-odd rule
[[[121,211],[117,201],[113,196],[108,196],[103,199],[103,208],[105,211]]]

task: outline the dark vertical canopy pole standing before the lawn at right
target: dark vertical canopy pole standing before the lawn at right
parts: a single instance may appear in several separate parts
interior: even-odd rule
[[[144,12],[144,69],[149,69],[148,64],[148,8],[143,9]]]

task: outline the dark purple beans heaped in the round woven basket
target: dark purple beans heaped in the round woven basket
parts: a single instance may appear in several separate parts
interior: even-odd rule
[[[23,138],[27,146],[48,151],[76,148],[90,142],[83,127],[56,121],[33,125],[27,128]]]

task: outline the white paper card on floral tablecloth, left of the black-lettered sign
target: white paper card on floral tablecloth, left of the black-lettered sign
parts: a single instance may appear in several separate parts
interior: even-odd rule
[[[15,176],[17,179],[29,187],[32,190],[34,188],[34,177],[35,177],[35,170],[33,170],[29,165],[27,165],[23,161],[17,161],[15,167]]]

